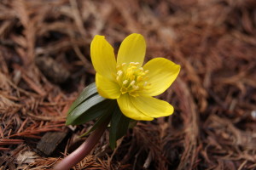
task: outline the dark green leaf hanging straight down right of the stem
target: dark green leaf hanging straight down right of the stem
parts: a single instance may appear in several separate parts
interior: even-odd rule
[[[112,150],[116,146],[116,141],[127,133],[130,121],[131,119],[124,116],[117,105],[113,111],[109,129],[109,144]]]

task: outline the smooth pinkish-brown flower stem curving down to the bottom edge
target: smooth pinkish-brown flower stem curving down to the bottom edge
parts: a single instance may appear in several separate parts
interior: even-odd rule
[[[68,170],[84,159],[84,157],[90,153],[90,150],[98,143],[99,139],[101,139],[102,134],[108,127],[108,122],[109,121],[102,122],[102,125],[96,128],[77,150],[74,150],[70,155],[57,163],[54,170]]]

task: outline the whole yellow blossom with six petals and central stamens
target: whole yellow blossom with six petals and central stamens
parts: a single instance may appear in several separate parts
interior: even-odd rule
[[[97,35],[90,44],[98,93],[107,99],[117,99],[125,116],[152,121],[154,117],[172,115],[172,105],[152,96],[171,86],[180,65],[164,58],[151,59],[143,65],[145,52],[143,36],[135,33],[121,43],[117,59],[105,37]]]

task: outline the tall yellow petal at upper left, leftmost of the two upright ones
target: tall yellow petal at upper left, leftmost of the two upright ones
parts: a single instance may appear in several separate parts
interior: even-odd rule
[[[112,46],[104,36],[96,35],[90,44],[90,57],[96,72],[113,80],[116,73],[116,60]]]

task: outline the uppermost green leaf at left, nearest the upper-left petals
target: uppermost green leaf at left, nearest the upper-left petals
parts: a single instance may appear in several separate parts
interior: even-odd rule
[[[76,99],[73,104],[70,106],[69,110],[67,111],[67,114],[69,114],[71,111],[74,110],[78,105],[80,105],[84,100],[89,99],[93,94],[97,93],[96,89],[96,83],[93,82],[79,94],[78,99]]]

